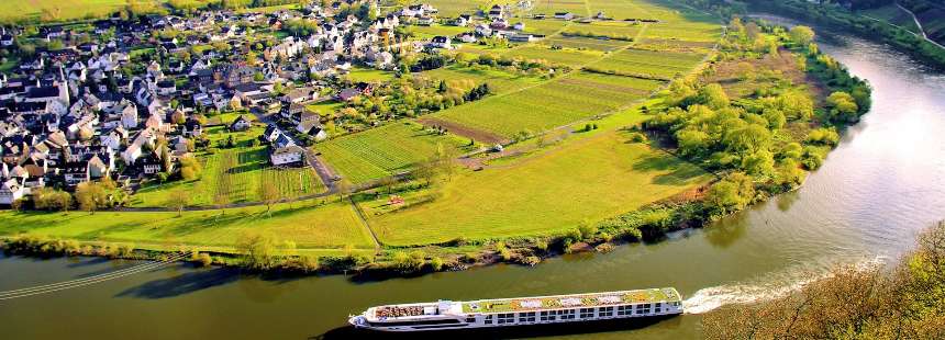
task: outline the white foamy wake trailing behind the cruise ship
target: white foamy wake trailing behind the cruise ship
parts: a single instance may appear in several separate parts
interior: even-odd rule
[[[855,263],[861,270],[881,265],[883,257],[876,257]],[[708,287],[697,291],[682,302],[686,314],[703,314],[715,308],[731,304],[748,304],[770,301],[796,292],[804,285],[827,277],[830,271],[821,269],[812,270],[788,270],[775,275],[768,275],[761,283],[757,284],[732,284]]]

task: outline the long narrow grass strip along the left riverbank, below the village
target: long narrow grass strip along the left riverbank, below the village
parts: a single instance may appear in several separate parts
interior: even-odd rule
[[[233,247],[243,233],[266,233],[299,248],[374,247],[349,204],[311,207],[312,202],[266,207],[177,213],[0,213],[0,236],[20,233],[80,241],[134,242],[175,247]]]

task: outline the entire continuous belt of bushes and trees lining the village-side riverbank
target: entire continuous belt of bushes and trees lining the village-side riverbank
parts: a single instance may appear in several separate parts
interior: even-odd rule
[[[535,265],[570,252],[608,252],[616,245],[652,241],[672,230],[701,227],[753,203],[794,190],[840,141],[844,127],[870,107],[870,88],[812,43],[814,32],[733,20],[718,54],[697,73],[675,80],[625,129],[715,174],[711,184],[604,220],[587,220],[553,235],[502,239],[457,238],[437,245],[347,247],[312,256],[291,240],[242,235],[235,247],[182,246],[165,252],[133,245],[57,240],[21,235],[2,241],[23,256],[102,256],[230,265],[285,275],[352,274],[382,280],[493,263]],[[400,185],[422,190],[419,184]],[[355,194],[352,201],[358,201]]]

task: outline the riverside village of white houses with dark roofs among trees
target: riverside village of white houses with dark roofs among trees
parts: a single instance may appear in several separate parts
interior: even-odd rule
[[[204,9],[0,26],[4,61],[19,60],[0,73],[0,205],[20,205],[43,188],[73,192],[107,181],[133,193],[142,182],[199,177],[196,152],[234,144],[232,135],[210,140],[211,126],[231,133],[265,126],[251,143],[269,146],[273,167],[312,167],[331,189],[340,178],[320,165],[309,149],[314,143],[443,107],[363,104],[373,91],[383,101],[401,89],[347,73],[399,76],[429,69],[426,60],[458,44],[542,37],[523,33],[524,24],[510,23],[508,8],[498,4],[477,16],[437,14],[429,4],[385,13],[376,1],[349,0],[266,14]],[[468,32],[415,38],[404,31],[434,23]],[[443,92],[444,84],[413,87]],[[479,84],[464,97],[486,94],[488,84]],[[347,114],[310,109],[321,103],[348,107]]]

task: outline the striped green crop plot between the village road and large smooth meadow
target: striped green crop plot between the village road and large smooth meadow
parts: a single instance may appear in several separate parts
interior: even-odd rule
[[[319,143],[314,149],[344,179],[360,184],[409,170],[429,159],[437,145],[459,149],[467,143],[401,122]]]

